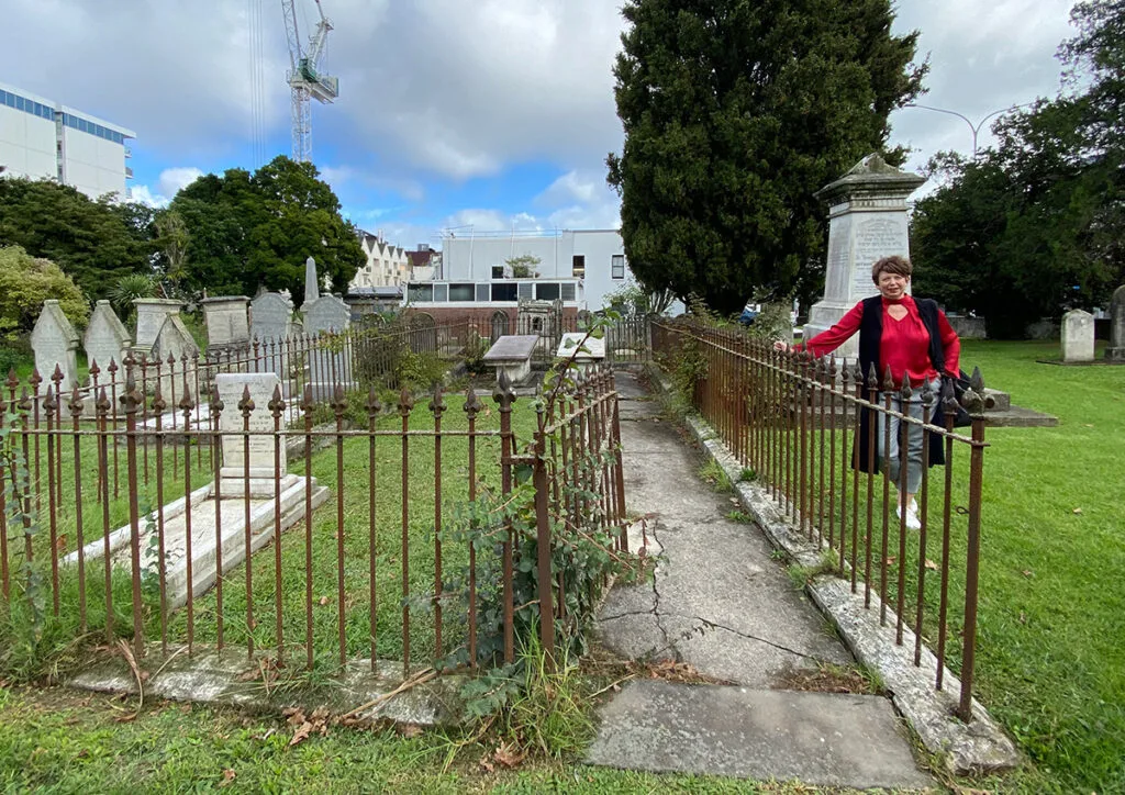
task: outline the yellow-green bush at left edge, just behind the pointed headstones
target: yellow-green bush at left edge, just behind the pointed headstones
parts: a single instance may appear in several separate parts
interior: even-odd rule
[[[10,340],[32,331],[48,298],[58,299],[75,326],[86,325],[90,305],[58,265],[30,256],[18,245],[0,246],[0,335]]]

